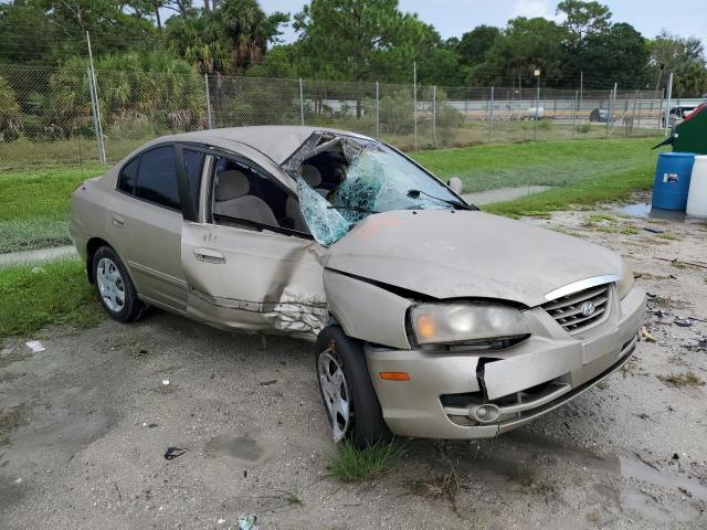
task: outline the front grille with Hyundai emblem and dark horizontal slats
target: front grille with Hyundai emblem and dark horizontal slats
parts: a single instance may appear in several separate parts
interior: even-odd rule
[[[567,331],[572,335],[599,324],[609,311],[609,296],[611,284],[598,285],[579,293],[562,296],[556,300],[550,300],[542,305],[542,309],[557,320]],[[582,312],[585,304],[592,304],[594,311],[590,315]]]

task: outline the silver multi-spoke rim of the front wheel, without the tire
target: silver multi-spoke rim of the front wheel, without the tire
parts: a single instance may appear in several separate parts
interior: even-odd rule
[[[337,443],[344,439],[351,424],[351,394],[341,363],[330,349],[319,353],[318,367],[319,384]]]

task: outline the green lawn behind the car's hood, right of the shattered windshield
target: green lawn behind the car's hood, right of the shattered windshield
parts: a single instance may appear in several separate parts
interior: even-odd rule
[[[464,192],[519,186],[563,187],[636,168],[653,168],[655,138],[542,141],[420,151],[413,158]],[[653,171],[653,169],[651,169]]]

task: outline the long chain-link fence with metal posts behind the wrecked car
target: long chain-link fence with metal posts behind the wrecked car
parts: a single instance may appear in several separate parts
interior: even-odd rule
[[[157,136],[310,125],[401,149],[653,136],[663,93],[469,88],[0,65],[0,170],[114,162]]]

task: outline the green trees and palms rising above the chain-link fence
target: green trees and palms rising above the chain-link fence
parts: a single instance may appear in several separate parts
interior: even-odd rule
[[[667,31],[646,39],[597,1],[562,0],[559,22],[515,18],[443,39],[398,0],[312,0],[265,13],[257,0],[12,0],[0,4],[0,62],[102,68],[421,84],[536,85],[707,93],[699,39]],[[292,24],[293,43],[282,42]],[[81,63],[84,61],[84,63]],[[82,66],[83,67],[83,66]]]

